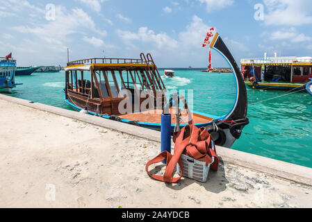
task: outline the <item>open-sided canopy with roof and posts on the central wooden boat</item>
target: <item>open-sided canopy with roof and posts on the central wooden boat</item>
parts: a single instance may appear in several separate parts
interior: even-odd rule
[[[81,85],[83,85],[85,81],[83,72],[90,71],[90,83],[92,84],[87,88],[95,89],[95,87],[105,87],[108,89],[108,93],[106,93],[106,89],[104,88],[100,90],[104,92],[101,99],[106,99],[108,95],[113,98],[120,92],[119,89],[130,89],[132,90],[131,92],[135,90],[137,94],[140,94],[141,91],[146,89],[151,89],[155,95],[158,91],[165,90],[163,80],[150,53],[147,53],[146,56],[144,53],[141,53],[140,59],[90,58],[68,62],[67,67],[65,67],[67,76],[66,82],[69,84],[67,89],[69,91],[72,90],[73,93],[81,93],[74,92],[73,85],[75,85],[76,88],[80,87],[79,90],[85,90],[84,87],[79,86],[78,83],[77,73],[79,71],[81,72],[81,75],[79,75],[81,76]],[[117,94],[113,92],[117,92]],[[88,94],[85,96],[88,98]],[[91,98],[92,96],[93,94]]]

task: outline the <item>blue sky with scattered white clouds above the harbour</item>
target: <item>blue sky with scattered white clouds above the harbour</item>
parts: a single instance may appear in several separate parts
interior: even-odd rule
[[[310,0],[0,0],[0,56],[12,51],[19,66],[64,66],[69,47],[70,60],[149,52],[158,67],[206,67],[208,28],[239,63],[264,52],[312,56],[311,25]],[[214,52],[213,66],[226,66]]]

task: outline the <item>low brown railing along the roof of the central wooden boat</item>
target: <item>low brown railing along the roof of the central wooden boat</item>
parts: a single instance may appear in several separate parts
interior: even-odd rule
[[[68,62],[67,66],[70,65],[85,65],[87,63],[102,63],[102,64],[141,64],[146,65],[146,62],[142,59],[136,58],[88,58],[84,60],[76,60],[72,62]],[[150,62],[149,62],[150,63]],[[151,63],[149,64],[151,65]]]

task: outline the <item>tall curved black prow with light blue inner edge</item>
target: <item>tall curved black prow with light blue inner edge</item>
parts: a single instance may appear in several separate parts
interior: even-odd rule
[[[231,147],[235,140],[240,137],[244,126],[249,123],[247,118],[247,89],[236,61],[218,33],[215,34],[210,47],[227,60],[236,78],[236,102],[232,110],[222,120],[215,121],[217,130],[215,130],[215,126],[211,126],[211,132],[218,134],[215,143],[219,146]]]

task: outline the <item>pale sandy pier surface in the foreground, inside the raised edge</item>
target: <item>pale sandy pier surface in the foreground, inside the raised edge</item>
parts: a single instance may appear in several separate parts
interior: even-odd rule
[[[206,183],[167,185],[145,172],[158,142],[0,107],[0,207],[312,207],[312,187],[227,162]]]

